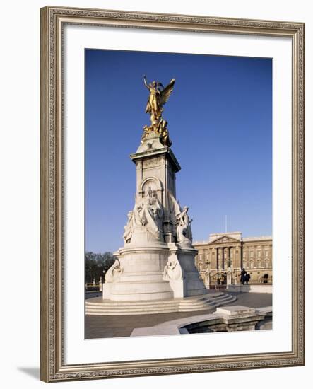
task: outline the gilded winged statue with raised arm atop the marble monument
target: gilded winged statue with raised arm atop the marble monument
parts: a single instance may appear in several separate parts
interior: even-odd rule
[[[172,79],[167,86],[163,86],[160,81],[152,81],[147,83],[146,75],[143,76],[143,82],[149,91],[148,102],[146,105],[146,113],[150,114],[151,125],[143,127],[144,140],[150,132],[160,135],[160,140],[165,146],[170,146],[172,142],[167,130],[167,121],[163,119],[163,105],[170,98],[173,91],[175,79]]]

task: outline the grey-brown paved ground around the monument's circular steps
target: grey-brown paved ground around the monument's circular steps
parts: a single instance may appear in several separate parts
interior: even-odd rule
[[[97,293],[99,296],[101,292]],[[272,305],[272,294],[264,293],[230,293],[237,300],[228,306],[247,306],[261,308]],[[93,294],[95,296],[95,294]],[[89,297],[89,296],[88,296]],[[187,318],[211,313],[212,310],[201,312],[157,313],[149,315],[85,315],[85,339],[102,337],[129,337],[134,328],[153,327],[160,323],[179,318]]]

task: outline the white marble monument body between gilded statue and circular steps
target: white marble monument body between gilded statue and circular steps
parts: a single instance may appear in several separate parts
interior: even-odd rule
[[[179,163],[153,132],[131,154],[136,201],[129,211],[124,247],[105,275],[104,300],[156,301],[199,296],[207,290],[194,263],[188,207],[176,196]]]

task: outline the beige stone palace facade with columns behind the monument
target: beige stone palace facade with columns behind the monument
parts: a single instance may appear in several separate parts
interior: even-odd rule
[[[272,283],[272,238],[242,238],[242,233],[211,233],[207,241],[194,242],[198,250],[195,262],[206,287],[240,283],[244,268],[250,274],[249,284]]]

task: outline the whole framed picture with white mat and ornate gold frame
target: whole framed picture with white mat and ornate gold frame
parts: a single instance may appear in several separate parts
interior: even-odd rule
[[[41,9],[41,379],[305,364],[305,25]]]

